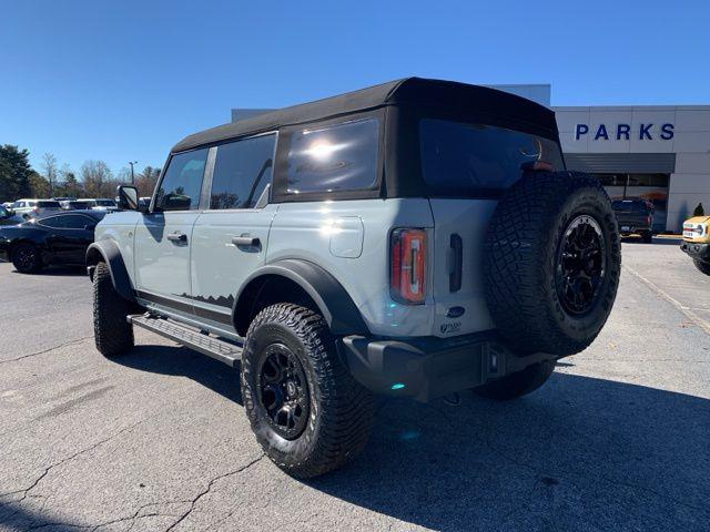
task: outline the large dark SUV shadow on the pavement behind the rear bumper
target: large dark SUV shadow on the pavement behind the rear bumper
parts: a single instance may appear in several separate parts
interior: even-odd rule
[[[557,372],[510,402],[388,400],[306,484],[434,530],[708,530],[709,442],[708,399]]]

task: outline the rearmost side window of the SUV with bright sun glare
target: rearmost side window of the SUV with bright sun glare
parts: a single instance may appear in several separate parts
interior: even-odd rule
[[[376,119],[294,133],[286,194],[372,188],[377,181],[378,133]]]

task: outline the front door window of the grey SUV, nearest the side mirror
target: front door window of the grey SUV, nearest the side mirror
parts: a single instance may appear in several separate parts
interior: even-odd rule
[[[207,149],[173,155],[160,184],[155,205],[163,211],[194,211],[200,207]]]

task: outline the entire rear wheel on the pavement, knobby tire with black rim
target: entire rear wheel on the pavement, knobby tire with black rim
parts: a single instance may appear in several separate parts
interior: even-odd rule
[[[313,310],[282,303],[258,313],[246,334],[241,380],[256,440],[286,473],[317,477],[365,447],[372,395],[351,377]]]

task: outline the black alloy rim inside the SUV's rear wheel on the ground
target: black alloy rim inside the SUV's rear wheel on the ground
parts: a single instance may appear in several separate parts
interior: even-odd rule
[[[258,365],[258,401],[266,421],[287,440],[298,438],[308,422],[310,395],[303,366],[283,344],[266,347]]]

